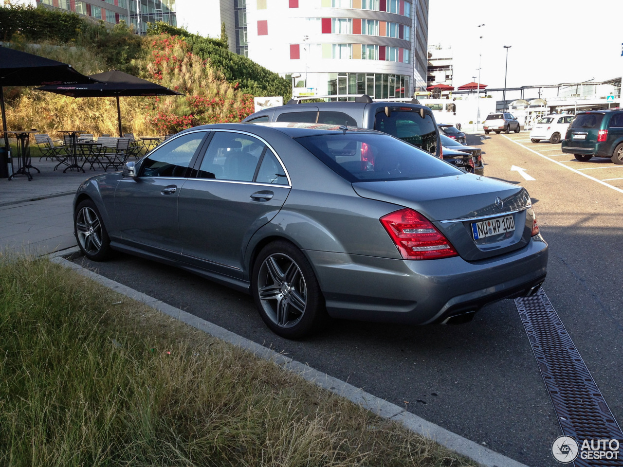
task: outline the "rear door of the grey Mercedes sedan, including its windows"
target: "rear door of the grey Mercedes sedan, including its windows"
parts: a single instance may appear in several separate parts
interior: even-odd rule
[[[290,179],[270,145],[242,131],[216,130],[179,194],[184,261],[244,278],[251,236],[281,209]]]

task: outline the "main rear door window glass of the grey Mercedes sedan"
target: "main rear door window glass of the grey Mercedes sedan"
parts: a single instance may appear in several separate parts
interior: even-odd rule
[[[199,167],[199,178],[251,182],[266,145],[242,133],[216,131]]]

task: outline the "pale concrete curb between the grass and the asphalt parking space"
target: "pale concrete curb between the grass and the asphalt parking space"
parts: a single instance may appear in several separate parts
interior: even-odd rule
[[[168,314],[172,318],[176,318],[189,326],[193,326],[193,328],[204,331],[211,336],[217,337],[223,341],[233,344],[234,346],[249,351],[255,356],[272,361],[283,369],[295,372],[308,382],[329,390],[333,392],[333,394],[345,397],[351,402],[361,405],[361,407],[364,407],[376,415],[379,415],[379,417],[388,418],[389,420],[401,423],[401,425],[412,432],[431,438],[432,440],[437,441],[440,445],[443,445],[450,450],[459,453],[460,455],[464,455],[480,465],[487,467],[527,467],[520,462],[485,448],[485,446],[478,445],[477,443],[474,443],[467,438],[463,438],[456,433],[449,432],[445,428],[439,427],[434,423],[427,422],[424,418],[417,417],[417,415],[407,412],[404,408],[398,407],[397,405],[394,405],[384,399],[380,399],[372,394],[368,394],[368,392],[358,389],[345,381],[315,370],[301,362],[292,360],[289,357],[257,344],[257,342],[250,341],[245,337],[221,328],[221,326],[217,326],[209,321],[197,318],[194,314],[175,308],[174,306],[164,303],[163,301],[157,300],[149,295],[94,273],[93,271],[83,268],[82,266],[72,263],[64,258],[64,256],[74,255],[79,252],[80,250],[75,247],[70,250],[53,253],[50,255],[50,258],[52,262],[92,278],[96,282],[121,293],[121,295],[125,295],[128,298],[145,303],[148,306],[151,306],[151,308],[155,308],[164,314]]]

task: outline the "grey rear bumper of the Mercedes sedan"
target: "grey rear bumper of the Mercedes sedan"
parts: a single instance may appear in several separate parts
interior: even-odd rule
[[[540,235],[521,250],[478,262],[305,253],[331,316],[404,324],[440,323],[488,303],[526,295],[545,280],[548,260],[547,243]]]

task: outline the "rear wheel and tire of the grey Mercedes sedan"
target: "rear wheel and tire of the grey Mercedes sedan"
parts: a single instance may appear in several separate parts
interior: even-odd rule
[[[264,323],[278,336],[300,339],[326,323],[325,298],[316,275],[290,242],[277,240],[262,248],[254,263],[251,290]]]

